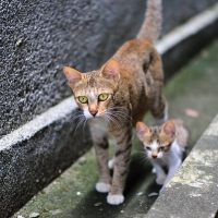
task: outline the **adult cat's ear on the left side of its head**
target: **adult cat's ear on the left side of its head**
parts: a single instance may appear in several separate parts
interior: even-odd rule
[[[63,66],[63,72],[72,89],[74,85],[82,80],[81,73],[72,68]]]

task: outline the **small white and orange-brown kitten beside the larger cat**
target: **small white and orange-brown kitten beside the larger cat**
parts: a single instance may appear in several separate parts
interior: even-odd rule
[[[164,185],[164,189],[182,164],[187,147],[189,131],[183,121],[179,119],[154,128],[137,122],[136,130],[147,157],[157,173],[156,182]],[[168,173],[165,172],[162,167],[168,168]]]

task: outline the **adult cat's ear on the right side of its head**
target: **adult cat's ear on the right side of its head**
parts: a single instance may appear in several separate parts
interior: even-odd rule
[[[110,59],[101,70],[101,76],[113,80],[116,83],[120,81],[120,65],[114,59]]]

